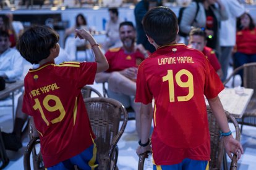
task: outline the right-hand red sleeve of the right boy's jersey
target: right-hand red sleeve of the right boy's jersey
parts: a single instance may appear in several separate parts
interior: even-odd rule
[[[224,86],[221,82],[219,76],[217,75],[216,71],[213,69],[211,64],[205,59],[205,97],[207,99],[215,98],[221,91],[223,91]]]

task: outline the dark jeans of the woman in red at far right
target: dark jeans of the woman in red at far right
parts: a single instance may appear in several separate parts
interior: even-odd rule
[[[256,54],[244,54],[242,52],[236,52],[234,54],[234,67],[240,67],[241,65],[244,65],[245,63],[252,63],[256,62]],[[238,74],[241,76],[241,79],[243,80],[243,71],[239,71]],[[242,86],[243,86],[242,82]]]

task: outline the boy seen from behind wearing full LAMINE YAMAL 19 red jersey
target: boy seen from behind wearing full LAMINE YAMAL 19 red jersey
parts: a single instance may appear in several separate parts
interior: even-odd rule
[[[150,150],[154,169],[205,169],[210,160],[205,95],[220,124],[224,147],[241,157],[242,146],[231,135],[218,93],[224,87],[202,52],[176,44],[177,17],[168,7],[155,7],[143,18],[148,41],[156,51],[140,63],[135,102],[142,103],[137,154]],[[152,110],[152,99],[155,110]]]

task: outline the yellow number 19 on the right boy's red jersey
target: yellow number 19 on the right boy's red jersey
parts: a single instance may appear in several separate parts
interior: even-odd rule
[[[181,76],[186,75],[187,81],[181,81]],[[180,87],[188,87],[189,94],[186,96],[177,96],[177,100],[179,102],[188,101],[194,96],[194,84],[193,84],[193,75],[188,70],[182,69],[175,75],[175,80],[178,86]],[[174,102],[174,79],[173,79],[173,70],[168,70],[167,75],[163,76],[163,82],[168,81],[169,87],[169,101]]]

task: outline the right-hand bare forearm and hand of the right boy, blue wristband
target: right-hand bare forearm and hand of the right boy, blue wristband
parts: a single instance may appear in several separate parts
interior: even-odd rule
[[[223,106],[221,104],[220,98],[217,96],[213,99],[208,99],[208,103],[213,111],[213,115],[216,118],[216,121],[221,127],[221,131],[227,133],[230,131],[228,126],[228,119],[224,113]],[[229,158],[233,158],[231,153],[237,155],[237,159],[241,158],[241,155],[244,153],[242,145],[236,139],[233,138],[232,135],[223,137],[224,139],[224,147],[226,152],[228,153]]]

